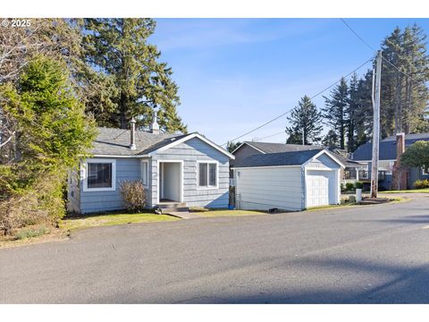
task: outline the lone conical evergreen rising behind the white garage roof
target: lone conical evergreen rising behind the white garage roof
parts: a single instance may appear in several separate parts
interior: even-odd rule
[[[290,137],[287,143],[314,144],[321,140],[323,130],[322,114],[317,110],[310,97],[299,100],[288,117],[290,126],[286,128]],[[299,139],[300,138],[300,139]]]

